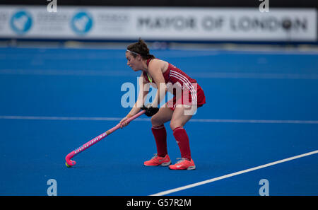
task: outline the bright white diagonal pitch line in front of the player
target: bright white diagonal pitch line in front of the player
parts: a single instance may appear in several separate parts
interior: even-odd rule
[[[208,184],[208,183],[211,183],[211,182],[216,182],[218,180],[224,180],[228,177],[233,177],[235,175],[241,175],[243,173],[248,173],[248,172],[251,172],[253,170],[259,170],[261,168],[266,168],[266,167],[269,167],[271,165],[276,165],[276,164],[279,164],[279,163],[284,163],[284,162],[287,162],[287,161],[292,161],[292,160],[295,160],[297,158],[302,158],[302,157],[305,157],[305,156],[311,156],[315,153],[318,153],[318,150],[316,151],[312,151],[312,152],[309,152],[309,153],[303,153],[299,156],[293,156],[293,157],[290,157],[290,158],[285,158],[281,161],[275,161],[275,162],[272,162],[272,163],[267,163],[267,164],[264,164],[264,165],[259,165],[257,167],[254,167],[254,168],[249,168],[249,169],[246,169],[246,170],[240,170],[240,171],[237,171],[235,173],[230,173],[228,175],[223,175],[223,176],[220,176],[220,177],[215,177],[213,179],[210,179],[210,180],[205,180],[205,181],[202,181],[202,182],[196,182],[192,185],[186,185],[186,186],[183,186],[183,187],[177,187],[175,189],[169,189],[169,190],[166,190],[166,191],[163,191],[163,192],[158,192],[156,194],[151,194],[151,196],[163,196],[165,194],[171,194],[173,192],[179,192],[181,190],[184,190],[184,189],[189,189],[189,188],[192,188],[192,187],[197,187],[197,186],[200,186],[200,185],[205,185],[205,184]]]

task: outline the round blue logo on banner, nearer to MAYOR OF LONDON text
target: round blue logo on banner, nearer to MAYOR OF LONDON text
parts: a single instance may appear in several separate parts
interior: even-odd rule
[[[84,35],[90,31],[93,26],[93,18],[86,12],[78,12],[71,19],[71,28],[78,35]]]

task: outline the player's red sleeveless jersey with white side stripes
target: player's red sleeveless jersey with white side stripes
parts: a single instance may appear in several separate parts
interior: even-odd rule
[[[149,62],[151,62],[151,59],[147,60],[147,66]],[[187,88],[187,90],[189,90],[189,102],[196,102],[196,105],[198,105],[198,107],[201,107],[201,105],[204,105],[206,103],[206,97],[201,86],[196,83],[195,79],[185,74],[176,66],[168,63],[167,71],[163,73],[163,77],[165,78],[165,83],[168,90],[170,86],[178,83],[177,85],[181,86],[182,90],[184,88]],[[147,82],[151,82],[149,81],[147,73],[145,71],[143,71],[143,78],[145,78]],[[173,95],[175,95],[175,91]],[[174,103],[175,100],[176,98],[174,98]]]

